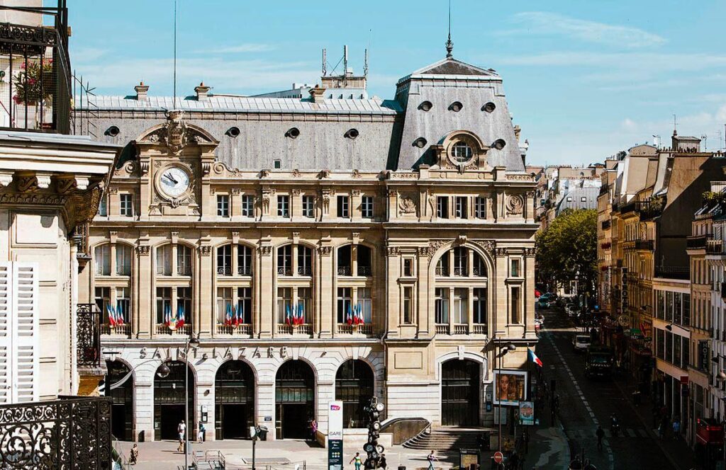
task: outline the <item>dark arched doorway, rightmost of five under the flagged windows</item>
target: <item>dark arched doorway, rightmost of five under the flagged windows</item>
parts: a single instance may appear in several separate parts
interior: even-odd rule
[[[373,371],[362,360],[346,360],[335,374],[335,400],[343,401],[343,427],[367,425],[365,405],[373,396]]]

